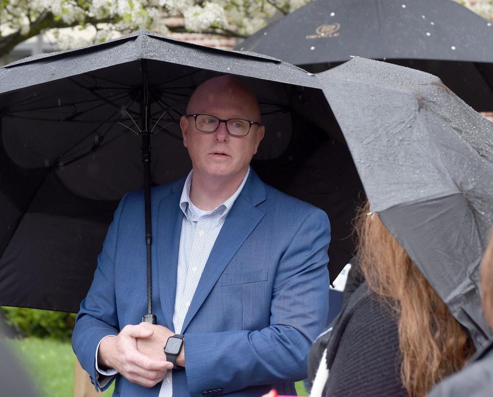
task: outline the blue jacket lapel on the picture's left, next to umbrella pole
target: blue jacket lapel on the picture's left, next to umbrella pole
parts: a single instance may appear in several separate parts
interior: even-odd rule
[[[173,312],[175,310],[178,252],[183,221],[183,212],[180,209],[183,184],[184,180],[174,185],[172,187],[173,194],[161,199],[156,228],[158,280],[154,285],[159,285],[164,325],[172,331],[175,328]]]

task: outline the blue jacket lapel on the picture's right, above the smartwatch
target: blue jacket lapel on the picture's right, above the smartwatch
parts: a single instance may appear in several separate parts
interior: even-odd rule
[[[227,215],[205,264],[193,300],[186,313],[182,333],[204,303],[238,248],[262,219],[265,213],[256,208],[256,205],[264,200],[266,200],[265,185],[255,172],[250,170],[248,180]]]

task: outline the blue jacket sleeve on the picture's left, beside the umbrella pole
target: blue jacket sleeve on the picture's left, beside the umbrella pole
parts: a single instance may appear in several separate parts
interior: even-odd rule
[[[99,342],[108,335],[118,334],[118,316],[115,300],[115,256],[118,228],[126,195],[120,201],[113,222],[109,226],[103,250],[98,256],[98,266],[81,310],[75,319],[72,334],[72,348],[82,368],[89,374],[91,383],[98,389],[96,371],[96,349]],[[108,382],[102,390],[109,387]]]

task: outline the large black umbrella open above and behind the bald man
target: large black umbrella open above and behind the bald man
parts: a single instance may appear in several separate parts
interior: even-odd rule
[[[1,305],[78,311],[119,198],[144,185],[149,135],[147,182],[186,175],[177,122],[193,89],[223,73],[248,78],[258,94],[260,177],[329,214],[335,278],[351,257],[362,186],[316,78],[141,31],[0,69]]]

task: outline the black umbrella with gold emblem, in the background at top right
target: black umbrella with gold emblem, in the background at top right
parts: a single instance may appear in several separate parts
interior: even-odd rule
[[[493,110],[493,24],[452,0],[317,0],[240,43],[311,72],[352,55],[432,73]]]

